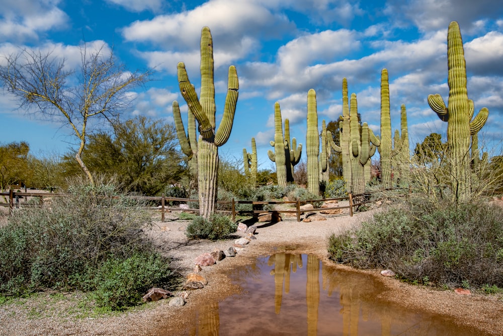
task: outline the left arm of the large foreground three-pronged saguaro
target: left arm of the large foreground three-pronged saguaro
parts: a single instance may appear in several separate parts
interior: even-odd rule
[[[192,113],[196,117],[199,122],[199,132],[203,139],[212,139],[213,138],[213,127],[210,123],[210,120],[206,116],[203,111],[203,107],[199,103],[199,99],[197,98],[196,90],[194,86],[189,81],[189,76],[187,75],[187,70],[185,69],[184,62],[178,63],[178,82],[180,85],[180,92],[184,97],[187,105],[191,109]]]

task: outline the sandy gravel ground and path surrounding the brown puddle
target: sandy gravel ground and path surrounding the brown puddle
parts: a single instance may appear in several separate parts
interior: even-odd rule
[[[251,264],[258,256],[267,256],[278,250],[292,253],[312,253],[324,262],[328,260],[327,237],[359,225],[374,211],[356,213],[355,216],[327,216],[326,221],[298,223],[294,217],[284,221],[258,223],[257,240],[238,251],[236,257],[227,257],[215,265],[203,268],[202,275],[208,280],[203,289],[190,292],[183,307],[168,306],[168,300],[143,305],[127,313],[113,316],[92,316],[79,310],[75,293],[66,293],[52,302],[49,294],[35,299],[0,306],[1,335],[177,335],[186,333],[192,325],[194,311],[203,302],[222,300],[238,293],[239,286],[232,284],[227,274],[234,267]],[[173,256],[173,265],[182,274],[191,273],[194,259],[215,248],[226,250],[236,237],[222,241],[188,241],[185,227],[189,221],[176,220],[169,214],[164,223],[155,222],[150,233],[158,239]],[[169,219],[172,218],[172,219]],[[348,268],[338,265],[336,267]],[[370,274],[386,290],[380,295],[384,300],[399,303],[404,309],[414,309],[443,315],[456,324],[475,327],[477,334],[503,334],[503,302],[497,296],[458,295],[453,291],[439,291],[421,286],[400,283],[385,278],[380,270],[363,271]],[[80,314],[79,314],[80,312]]]

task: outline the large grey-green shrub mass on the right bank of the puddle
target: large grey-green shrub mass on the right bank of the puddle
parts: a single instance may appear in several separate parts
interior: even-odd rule
[[[328,239],[330,257],[361,268],[439,286],[503,286],[501,208],[483,202],[401,204],[360,229]]]

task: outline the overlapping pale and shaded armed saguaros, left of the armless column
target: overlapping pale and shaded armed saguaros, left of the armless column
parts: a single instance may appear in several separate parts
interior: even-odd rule
[[[267,155],[276,163],[278,185],[285,187],[288,182],[293,182],[293,167],[299,162],[302,145],[297,149],[297,141],[293,138],[293,149],[290,149],[290,123],[285,120],[285,137],[283,137],[283,120],[281,118],[280,103],[274,104],[274,141],[270,142],[274,153],[269,150]]]

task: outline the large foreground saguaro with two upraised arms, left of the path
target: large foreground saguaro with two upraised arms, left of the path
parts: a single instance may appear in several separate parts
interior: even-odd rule
[[[189,81],[185,64],[178,63],[178,82],[187,105],[199,123],[198,184],[199,214],[204,218],[215,212],[217,201],[218,147],[227,142],[234,121],[239,82],[234,65],[229,67],[227,97],[222,121],[215,132],[215,84],[213,78],[213,40],[210,29],[201,30],[201,94],[197,97]]]

